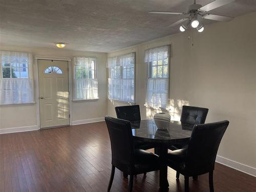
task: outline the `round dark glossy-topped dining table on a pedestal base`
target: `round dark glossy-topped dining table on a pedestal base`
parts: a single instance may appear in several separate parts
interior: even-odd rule
[[[182,123],[181,121],[170,121],[166,129],[158,129],[154,120],[140,120],[131,122],[133,137],[137,140],[152,143],[159,150],[159,187],[169,187],[167,179],[168,147],[189,140],[194,124]]]

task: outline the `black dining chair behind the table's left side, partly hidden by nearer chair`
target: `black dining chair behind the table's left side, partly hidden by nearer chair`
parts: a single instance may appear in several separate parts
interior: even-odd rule
[[[127,121],[140,121],[140,105],[127,105],[127,106],[116,106],[116,116],[118,119],[124,119]],[[142,150],[148,150],[154,148],[151,143],[142,142],[138,139],[134,139],[135,148],[141,148]]]

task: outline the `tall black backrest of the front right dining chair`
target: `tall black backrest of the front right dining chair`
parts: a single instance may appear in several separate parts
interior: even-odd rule
[[[201,175],[214,170],[216,155],[229,121],[196,124],[188,148],[186,168],[190,175]]]

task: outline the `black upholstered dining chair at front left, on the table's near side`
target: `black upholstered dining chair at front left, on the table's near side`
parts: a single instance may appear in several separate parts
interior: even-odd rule
[[[105,117],[105,121],[112,152],[112,170],[108,191],[113,183],[115,168],[130,175],[129,191],[132,191],[134,175],[159,170],[159,158],[153,153],[134,148],[130,121],[108,116]]]

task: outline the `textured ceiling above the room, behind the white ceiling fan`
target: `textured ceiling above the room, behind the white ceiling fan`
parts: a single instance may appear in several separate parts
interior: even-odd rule
[[[212,0],[200,0],[205,5]],[[110,52],[170,34],[193,0],[0,0],[0,44]],[[239,16],[256,11],[255,0],[237,0],[211,13]],[[212,23],[207,21],[206,24]]]

